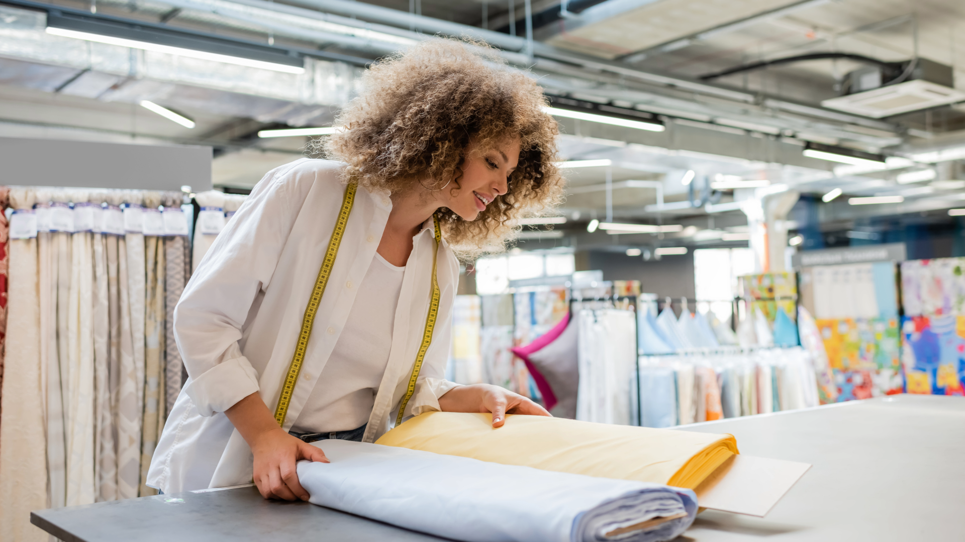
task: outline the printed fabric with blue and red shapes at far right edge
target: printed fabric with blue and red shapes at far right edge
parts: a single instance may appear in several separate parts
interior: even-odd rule
[[[965,395],[965,316],[905,316],[901,332],[908,393]]]

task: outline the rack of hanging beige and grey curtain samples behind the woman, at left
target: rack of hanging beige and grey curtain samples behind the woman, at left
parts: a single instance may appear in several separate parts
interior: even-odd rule
[[[0,203],[0,539],[45,540],[32,509],[156,493],[194,213],[181,192],[0,187]]]

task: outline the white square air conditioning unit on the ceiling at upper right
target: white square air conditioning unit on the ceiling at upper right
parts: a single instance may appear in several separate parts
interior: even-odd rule
[[[826,99],[821,105],[881,119],[965,100],[965,93],[952,88],[951,67],[918,59],[897,64],[896,68],[888,73],[881,67],[856,69],[847,74],[844,84],[845,92],[853,94]],[[900,75],[889,77],[896,71]],[[887,82],[902,78],[900,83]]]

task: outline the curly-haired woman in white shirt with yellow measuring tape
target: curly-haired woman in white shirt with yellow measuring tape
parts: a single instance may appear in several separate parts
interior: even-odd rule
[[[269,172],[218,235],[175,309],[190,378],[148,485],[254,479],[266,499],[308,500],[295,462],[327,459],[307,443],[373,442],[427,411],[549,416],[442,378],[455,254],[503,250],[562,190],[540,89],[470,47],[427,42],[369,69],[322,144],[340,161]]]

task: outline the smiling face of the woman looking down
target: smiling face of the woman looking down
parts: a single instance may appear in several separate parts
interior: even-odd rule
[[[508,179],[519,162],[519,137],[506,138],[494,149],[477,152],[469,142],[458,188],[439,191],[438,198],[463,220],[473,221],[497,196],[506,194]]]

